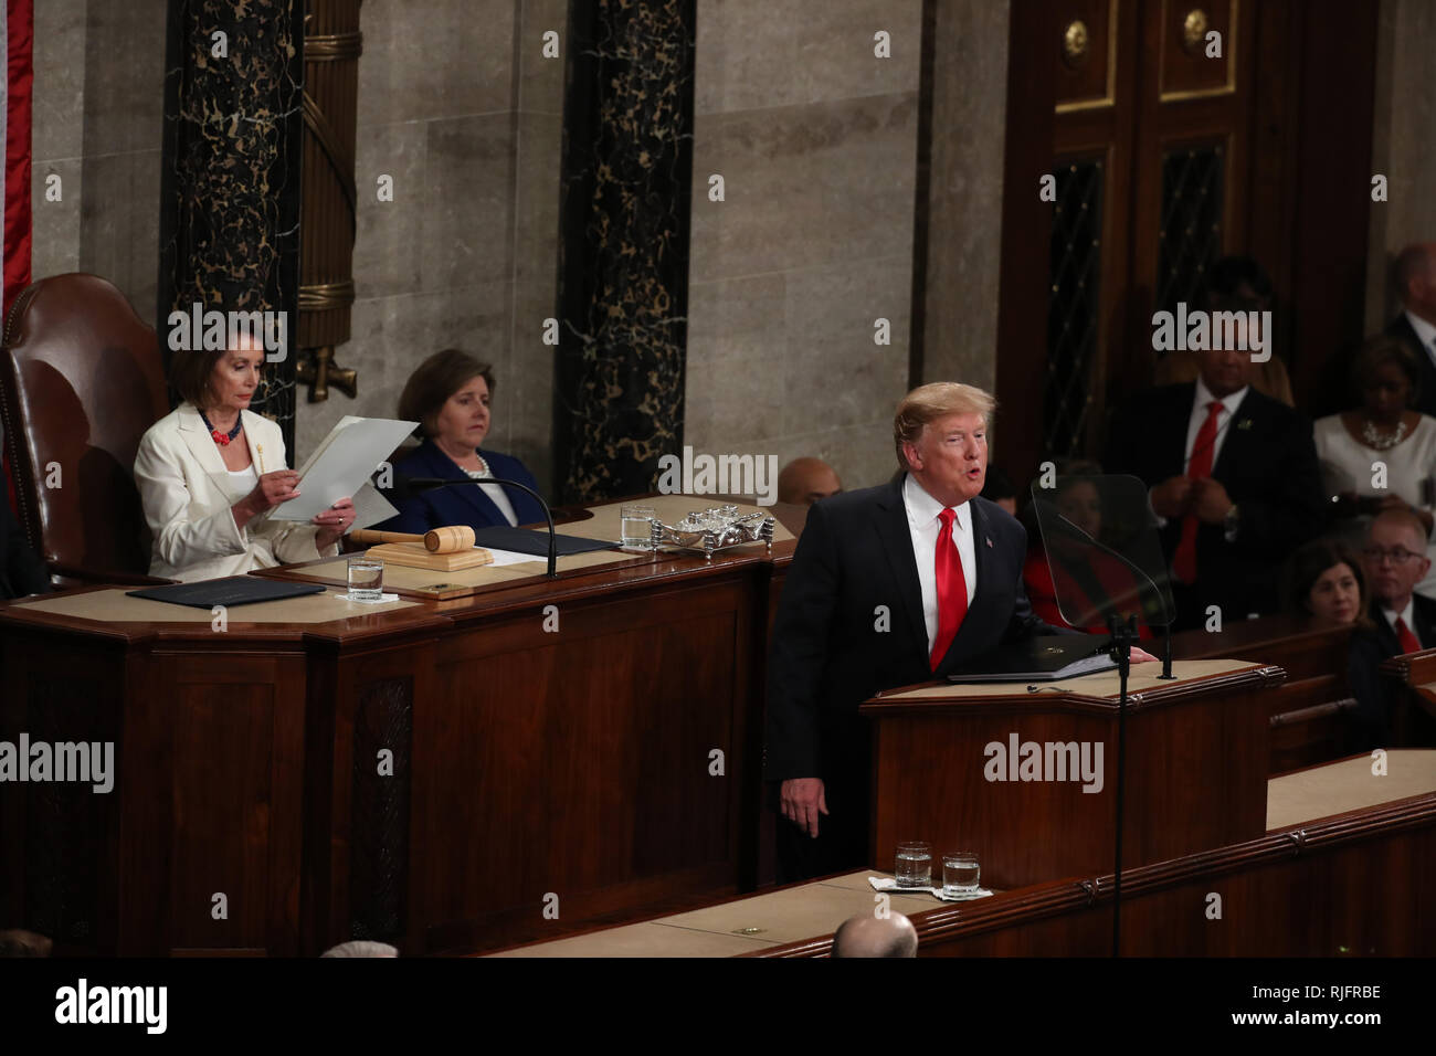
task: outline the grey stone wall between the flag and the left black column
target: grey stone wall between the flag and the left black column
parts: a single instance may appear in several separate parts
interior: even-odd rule
[[[36,279],[93,272],[155,322],[167,0],[34,6]],[[59,201],[46,197],[57,175]]]

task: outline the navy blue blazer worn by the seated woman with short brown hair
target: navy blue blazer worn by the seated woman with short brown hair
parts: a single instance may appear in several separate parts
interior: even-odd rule
[[[517,458],[482,448],[478,450],[478,454],[488,463],[488,468],[495,477],[517,480],[534,491],[538,490],[538,481],[534,480],[534,474],[524,468],[524,464]],[[470,476],[452,458],[444,454],[432,440],[425,440],[414,454],[402,458],[393,467],[395,488],[401,494],[405,477],[470,480]],[[520,524],[546,522],[543,507],[533,496],[520,491],[517,487],[505,487],[504,491],[508,494],[508,501],[513,503],[514,516],[518,517]],[[477,484],[438,487],[411,496],[402,503],[396,503],[396,506],[399,507],[399,514],[389,517],[389,520],[381,524],[375,524],[376,529],[381,532],[419,533],[448,524],[468,524],[474,529],[508,524],[504,514],[494,506],[494,500],[484,494],[484,488]]]

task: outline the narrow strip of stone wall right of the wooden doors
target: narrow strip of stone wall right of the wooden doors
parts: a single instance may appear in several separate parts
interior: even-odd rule
[[[1391,261],[1413,241],[1436,241],[1436,4],[1381,0],[1376,42],[1371,172],[1387,178],[1387,201],[1371,204],[1366,269],[1366,332],[1399,310]]]

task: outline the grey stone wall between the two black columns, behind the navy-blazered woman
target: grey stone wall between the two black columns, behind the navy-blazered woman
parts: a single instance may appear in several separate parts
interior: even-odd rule
[[[458,346],[494,365],[485,445],[549,486],[563,0],[365,0],[352,338],[359,397],[299,405],[299,448],[346,414],[393,417],[409,372]],[[378,180],[393,178],[393,201]]]

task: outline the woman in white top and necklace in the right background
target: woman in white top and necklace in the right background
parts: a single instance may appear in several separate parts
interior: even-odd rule
[[[1399,338],[1371,338],[1353,363],[1351,381],[1361,407],[1313,427],[1321,483],[1335,500],[1335,532],[1360,546],[1377,513],[1412,509],[1430,534],[1436,418],[1412,409],[1420,385],[1416,353]],[[1416,592],[1436,598],[1436,573],[1427,573]]]

